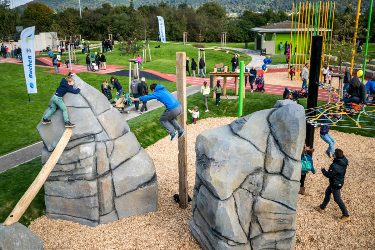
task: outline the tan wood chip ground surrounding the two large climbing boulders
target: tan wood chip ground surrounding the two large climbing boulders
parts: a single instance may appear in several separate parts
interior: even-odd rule
[[[286,76],[285,76],[286,78]],[[188,119],[191,119],[188,116]],[[230,123],[235,117],[207,118],[187,126],[188,193],[193,196],[195,182],[195,139],[203,130]],[[299,195],[296,250],[375,249],[375,149],[374,138],[330,131],[336,148],[344,150],[349,160],[341,197],[351,222],[339,223],[338,205],[331,199],[324,214],[312,207],[324,198],[328,178],[320,167],[328,169],[331,160],[324,151],[327,144],[315,130],[314,167],[305,187],[308,196]],[[29,228],[42,238],[45,250],[123,250],[123,249],[201,249],[190,234],[191,203],[186,210],[178,207],[172,196],[178,193],[177,140],[170,136],[146,148],[154,160],[158,177],[158,211],[132,216],[95,228],[45,216],[34,220]]]

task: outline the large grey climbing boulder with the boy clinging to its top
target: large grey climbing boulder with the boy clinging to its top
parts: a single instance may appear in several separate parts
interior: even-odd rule
[[[78,94],[66,93],[63,101],[76,126],[44,184],[46,216],[96,226],[157,211],[153,160],[107,98],[73,77],[74,88],[83,88]],[[37,126],[44,144],[43,165],[65,131],[60,109],[50,119],[52,123]]]

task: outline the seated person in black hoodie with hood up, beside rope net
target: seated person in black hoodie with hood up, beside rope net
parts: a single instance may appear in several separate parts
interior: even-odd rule
[[[367,88],[365,86],[365,84],[363,84],[358,76],[354,76],[350,82],[349,82],[350,86],[348,87],[348,92],[347,92],[347,96],[344,97],[344,99],[341,99],[340,102],[338,102],[338,104],[341,104],[341,103],[351,103],[351,102],[354,102],[354,103],[362,103],[363,107],[367,107],[366,106],[366,101],[367,101]]]

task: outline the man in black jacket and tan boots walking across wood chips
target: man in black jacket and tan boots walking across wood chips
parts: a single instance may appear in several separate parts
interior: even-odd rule
[[[331,199],[331,193],[332,193],[333,199],[339,205],[339,208],[342,211],[341,218],[337,219],[339,222],[348,222],[351,220],[348,214],[348,210],[345,207],[345,204],[341,199],[341,192],[340,192],[340,189],[344,185],[347,165],[348,165],[348,159],[344,156],[344,152],[341,149],[336,148],[335,158],[333,159],[332,164],[329,166],[328,171],[326,171],[324,167],[321,168],[323,175],[329,178],[329,186],[326,189],[326,196],[324,197],[324,201],[322,204],[320,204],[320,206],[314,207],[315,210],[323,214],[324,209],[326,209]]]

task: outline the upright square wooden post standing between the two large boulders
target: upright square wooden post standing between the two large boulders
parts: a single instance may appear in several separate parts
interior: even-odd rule
[[[187,142],[186,142],[186,53],[176,52],[176,86],[177,100],[182,107],[177,122],[185,130],[178,139],[178,193],[180,195],[180,208],[187,208]]]

